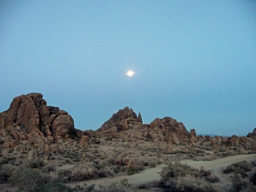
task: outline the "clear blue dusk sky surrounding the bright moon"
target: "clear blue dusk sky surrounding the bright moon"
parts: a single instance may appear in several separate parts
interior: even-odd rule
[[[128,106],[144,123],[169,116],[188,131],[246,135],[256,1],[0,0],[0,112],[31,92],[81,130]]]

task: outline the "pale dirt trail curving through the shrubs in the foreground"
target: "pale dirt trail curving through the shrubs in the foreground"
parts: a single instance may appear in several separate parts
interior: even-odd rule
[[[256,154],[250,154],[250,155],[237,155],[237,156],[228,156],[225,158],[221,159],[215,159],[212,161],[193,161],[193,160],[181,160],[181,163],[191,165],[194,168],[200,168],[203,166],[206,169],[220,169],[225,166],[231,165],[232,163],[237,163],[239,161],[247,160],[247,161],[252,161],[256,159]],[[137,184],[142,184],[142,183],[147,183],[147,182],[152,182],[156,180],[160,180],[160,171],[161,168],[166,165],[159,165],[156,168],[149,168],[144,170],[141,173],[134,174],[134,175],[129,175],[129,176],[119,176],[119,177],[114,177],[114,178],[103,178],[103,179],[98,179],[98,180],[88,180],[88,181],[83,181],[83,182],[75,182],[75,183],[70,183],[70,186],[75,186],[75,185],[81,185],[83,183],[86,183],[87,185],[90,184],[96,184],[98,185],[109,185],[112,182],[117,182],[122,179],[127,179],[129,183],[137,185]]]

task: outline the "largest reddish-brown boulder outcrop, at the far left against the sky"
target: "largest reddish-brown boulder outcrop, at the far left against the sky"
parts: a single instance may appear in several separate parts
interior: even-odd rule
[[[10,108],[0,113],[0,136],[3,139],[45,144],[65,136],[73,138],[75,133],[73,118],[58,107],[47,106],[40,93],[15,97]],[[80,137],[82,134],[79,132]]]

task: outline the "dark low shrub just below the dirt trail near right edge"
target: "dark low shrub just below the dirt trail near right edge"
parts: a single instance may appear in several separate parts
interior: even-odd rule
[[[227,168],[223,170],[223,173],[229,174],[236,172],[245,177],[247,176],[246,171],[251,171],[252,168],[252,164],[248,161],[241,161],[239,163],[233,163],[232,165],[227,166]]]

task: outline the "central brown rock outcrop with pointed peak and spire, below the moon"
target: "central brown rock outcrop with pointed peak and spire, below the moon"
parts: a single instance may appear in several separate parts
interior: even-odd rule
[[[144,140],[165,142],[167,144],[180,144],[191,141],[195,144],[197,137],[195,130],[190,133],[182,122],[177,122],[171,117],[155,119],[148,124],[142,124],[142,117],[138,117],[131,108],[120,109],[106,121],[97,131],[85,131],[90,137],[107,137],[129,140]]]

